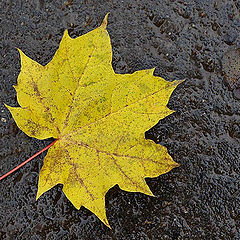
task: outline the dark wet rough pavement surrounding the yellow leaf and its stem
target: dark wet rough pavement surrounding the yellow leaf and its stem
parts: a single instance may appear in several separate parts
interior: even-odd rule
[[[4,107],[18,106],[16,48],[45,65],[66,28],[77,37],[110,12],[117,73],[156,67],[186,81],[168,105],[176,112],[146,133],[181,164],[147,179],[155,198],[112,188],[112,230],[76,210],[60,185],[36,202],[42,154],[0,182],[0,239],[240,239],[239,9],[238,0],[1,0],[1,174],[52,141],[26,136]]]

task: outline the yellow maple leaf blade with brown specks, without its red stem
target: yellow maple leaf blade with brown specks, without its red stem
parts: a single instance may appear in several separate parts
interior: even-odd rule
[[[79,209],[109,226],[105,195],[122,190],[153,196],[146,177],[177,167],[167,149],[144,133],[173,111],[167,103],[181,81],[153,76],[154,69],[116,74],[106,30],[72,39],[67,30],[53,59],[42,66],[21,50],[15,86],[21,107],[7,106],[28,136],[56,138],[40,171],[37,199],[56,184]]]

